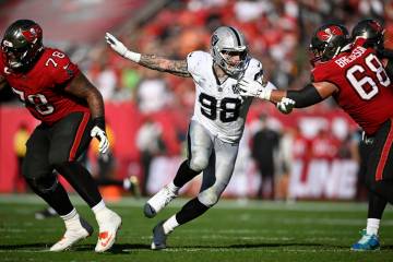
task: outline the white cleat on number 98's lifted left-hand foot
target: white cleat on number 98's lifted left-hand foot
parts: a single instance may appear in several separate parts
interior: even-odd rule
[[[146,217],[152,218],[157,215],[170,201],[179,195],[178,190],[171,191],[168,186],[165,186],[155,195],[153,195],[143,207],[143,213]]]

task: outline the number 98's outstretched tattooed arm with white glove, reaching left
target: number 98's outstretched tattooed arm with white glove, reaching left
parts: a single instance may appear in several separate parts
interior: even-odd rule
[[[178,76],[190,78],[191,74],[187,69],[186,60],[169,60],[157,57],[155,55],[143,55],[129,50],[120,40],[109,33],[106,33],[105,39],[107,44],[117,53],[145,68],[157,70],[160,72],[171,73]]]

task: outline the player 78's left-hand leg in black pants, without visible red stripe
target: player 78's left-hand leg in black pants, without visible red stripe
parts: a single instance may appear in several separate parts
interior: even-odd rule
[[[26,147],[23,175],[27,183],[60,215],[66,224],[64,236],[50,248],[50,251],[69,249],[79,240],[92,235],[93,228],[79,216],[64,188],[58,181],[57,175],[52,172],[48,163],[48,128],[38,126],[27,141]]]

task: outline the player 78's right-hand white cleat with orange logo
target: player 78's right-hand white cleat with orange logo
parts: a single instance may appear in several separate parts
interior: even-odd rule
[[[110,249],[116,240],[116,235],[121,226],[121,217],[112,211],[109,211],[105,218],[98,221],[99,235],[95,247],[96,252],[105,252]]]

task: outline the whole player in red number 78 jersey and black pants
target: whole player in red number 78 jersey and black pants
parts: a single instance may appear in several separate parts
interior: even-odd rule
[[[100,141],[103,154],[108,150],[102,95],[64,52],[44,47],[43,29],[31,20],[17,20],[4,33],[0,85],[4,81],[41,121],[26,143],[22,169],[32,190],[64,221],[66,234],[50,251],[69,249],[93,231],[71,204],[53,169],[95,213],[99,226],[95,251],[108,250],[115,242],[121,218],[105,206],[91,174],[76,160],[92,138]]]

